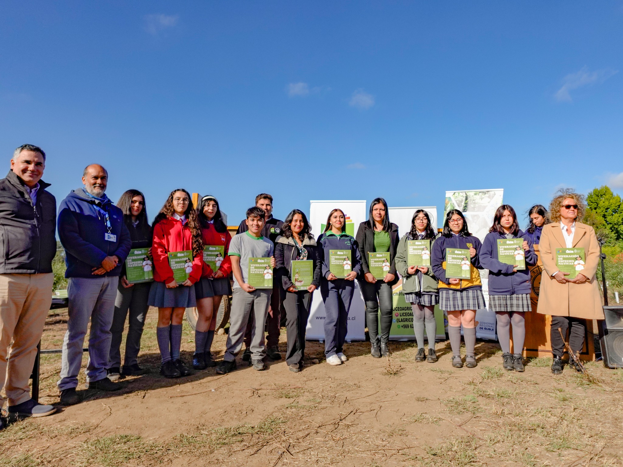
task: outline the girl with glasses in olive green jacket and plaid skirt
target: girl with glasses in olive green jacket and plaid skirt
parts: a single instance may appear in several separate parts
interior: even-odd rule
[[[424,209],[418,209],[411,219],[411,231],[404,235],[398,243],[396,252],[396,269],[402,276],[402,293],[404,300],[411,303],[413,309],[413,331],[416,334],[417,354],[416,362],[426,359],[429,363],[437,361],[435,353],[435,335],[437,323],[435,322],[435,305],[439,303],[437,291],[437,278],[430,266],[421,266],[422,263],[430,263],[429,248],[422,247],[421,261],[419,265],[409,263],[409,243],[414,240],[428,240],[430,248],[435,242],[436,232],[430,225],[430,217]],[[414,245],[417,248],[417,245]],[[413,247],[412,247],[413,248]],[[418,258],[420,259],[420,258]],[[428,355],[424,352],[424,328],[429,342]]]

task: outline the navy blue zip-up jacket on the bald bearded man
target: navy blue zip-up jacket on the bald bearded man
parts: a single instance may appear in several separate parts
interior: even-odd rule
[[[116,242],[105,240],[106,222],[96,205],[108,213]],[[110,199],[102,202],[88,196],[82,188],[70,192],[60,203],[58,229],[60,243],[65,248],[65,277],[101,277],[92,274],[93,268],[100,267],[105,257],[113,255],[119,258],[118,266],[102,276],[120,275],[132,240],[123,223],[123,212]]]

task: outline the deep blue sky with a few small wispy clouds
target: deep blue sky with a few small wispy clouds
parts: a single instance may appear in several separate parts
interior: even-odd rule
[[[310,199],[437,205],[623,191],[623,2],[2,2],[0,148],[60,200],[214,194],[239,222]],[[523,224],[523,223],[522,223]]]

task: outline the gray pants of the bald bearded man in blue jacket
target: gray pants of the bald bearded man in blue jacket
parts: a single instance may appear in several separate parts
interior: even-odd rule
[[[113,324],[119,278],[71,277],[68,282],[69,320],[63,340],[60,380],[57,382],[60,390],[78,387],[82,346],[89,321],[91,332],[88,337],[87,382],[99,381],[106,377],[110,352],[110,326]]]

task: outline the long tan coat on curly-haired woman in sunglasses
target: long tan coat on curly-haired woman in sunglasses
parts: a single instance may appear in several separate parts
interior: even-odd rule
[[[573,235],[573,247],[584,248],[586,254],[586,265],[581,273],[589,278],[588,281],[582,284],[573,282],[561,284],[551,276],[559,270],[556,267],[556,248],[564,247],[566,243],[564,243],[560,224],[553,222],[545,225],[539,244],[545,271],[541,276],[541,290],[536,312],[553,316],[604,319],[601,291],[595,275],[599,264],[599,242],[597,242],[595,230],[590,225],[576,222],[576,231]]]

